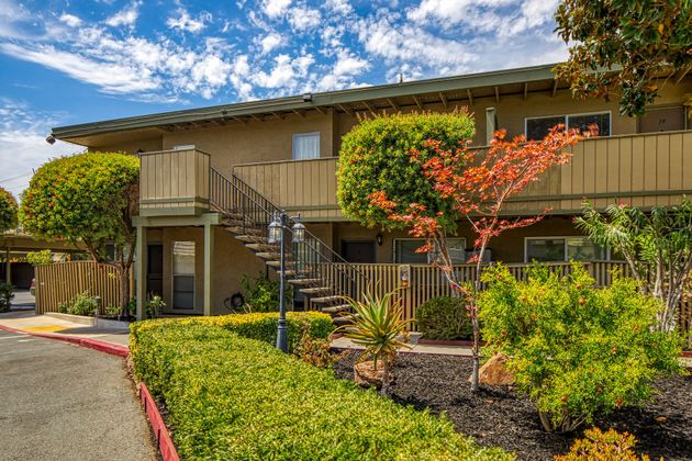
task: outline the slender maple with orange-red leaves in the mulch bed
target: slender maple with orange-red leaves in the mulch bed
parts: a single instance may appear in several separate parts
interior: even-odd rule
[[[507,200],[526,189],[531,183],[551,167],[567,164],[570,154],[563,151],[577,144],[584,136],[595,135],[596,128],[580,133],[578,130],[565,130],[557,125],[540,140],[526,140],[516,136],[507,140],[504,130],[494,133],[494,138],[479,156],[461,145],[455,149],[444,149],[439,142],[428,139],[426,147],[434,156],[422,166],[422,173],[440,198],[453,203],[451,210],[457,221],[468,221],[477,235],[473,246],[475,256],[469,262],[476,263],[473,283],[462,284],[453,269],[451,258],[446,245],[447,232],[440,224],[442,212],[431,216],[424,205],[412,203],[405,213],[397,213],[397,203],[389,200],[383,191],[370,195],[370,203],[388,211],[388,217],[406,224],[410,234],[423,237],[426,243],[418,252],[434,252],[435,263],[442,269],[453,290],[467,300],[467,310],[473,325],[473,374],[471,389],[478,390],[480,326],[478,323],[477,294],[480,290],[480,273],[485,249],[491,238],[505,231],[526,227],[540,221],[545,213],[516,218],[502,217]],[[410,155],[415,159],[417,150]]]

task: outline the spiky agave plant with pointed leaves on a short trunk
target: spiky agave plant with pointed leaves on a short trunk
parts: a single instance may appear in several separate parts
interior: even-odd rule
[[[361,357],[372,359],[372,367],[377,370],[378,361],[382,363],[382,395],[389,392],[390,369],[401,347],[410,348],[399,337],[404,334],[408,322],[403,321],[403,305],[394,299],[395,291],[382,297],[364,295],[364,302],[347,299],[356,314],[353,324],[341,327],[348,339],[358,346],[364,346]]]

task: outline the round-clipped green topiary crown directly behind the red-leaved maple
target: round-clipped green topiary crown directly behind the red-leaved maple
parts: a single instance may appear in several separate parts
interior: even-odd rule
[[[344,136],[339,153],[336,193],[344,215],[368,227],[404,228],[404,223],[388,218],[390,212],[371,203],[373,193],[384,192],[397,204],[395,213],[405,213],[416,203],[431,216],[438,212],[449,216],[445,227],[456,228],[453,202],[431,188],[423,164],[434,154],[428,139],[438,140],[442,149],[454,150],[468,143],[473,133],[473,119],[466,111],[398,113],[361,121]],[[414,150],[418,155],[411,156]]]

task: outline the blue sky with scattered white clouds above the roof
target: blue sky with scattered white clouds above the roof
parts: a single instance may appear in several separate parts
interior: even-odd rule
[[[0,185],[52,126],[555,63],[556,0],[0,0]]]

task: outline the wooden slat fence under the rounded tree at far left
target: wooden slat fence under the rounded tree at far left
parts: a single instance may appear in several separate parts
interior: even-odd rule
[[[120,276],[110,265],[94,261],[58,262],[35,268],[36,314],[57,312],[78,294],[99,296],[101,306],[120,306]],[[133,270],[130,271],[131,299],[134,295]]]

